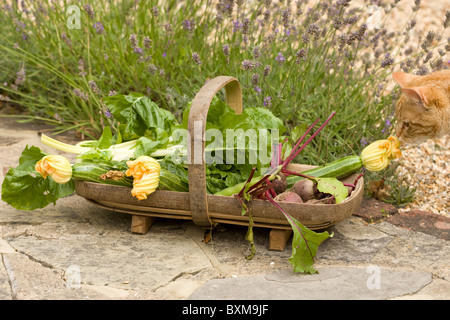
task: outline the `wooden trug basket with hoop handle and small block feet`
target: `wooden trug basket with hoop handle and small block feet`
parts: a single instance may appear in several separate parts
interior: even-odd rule
[[[191,136],[191,150],[194,145],[205,149],[205,125],[208,109],[215,94],[225,88],[227,104],[237,113],[242,112],[242,93],[239,81],[228,76],[219,76],[208,81],[192,101],[188,120]],[[194,122],[201,121],[202,131],[194,131]],[[189,192],[156,190],[146,200],[137,200],[129,187],[101,183],[76,181],[75,191],[92,204],[109,210],[132,215],[131,231],[145,234],[156,218],[192,220],[202,228],[211,229],[218,223],[248,226],[248,215],[242,215],[242,207],[235,197],[207,194],[204,157],[194,161],[196,151],[190,152],[188,159]],[[198,157],[198,156],[197,156]],[[302,172],[312,166],[291,164],[289,170]],[[356,173],[343,179],[353,183]],[[364,181],[360,179],[352,195],[339,204],[308,204],[279,202],[292,217],[311,230],[324,229],[352,215],[361,204]],[[284,215],[268,201],[253,200],[251,203],[255,227],[272,229],[269,249],[284,250],[292,232]]]

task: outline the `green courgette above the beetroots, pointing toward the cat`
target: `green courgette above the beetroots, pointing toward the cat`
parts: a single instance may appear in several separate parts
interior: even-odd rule
[[[327,163],[326,165],[309,169],[302,172],[305,175],[316,177],[316,178],[345,178],[352,173],[360,170],[363,164],[361,157],[359,156],[347,156],[337,159],[333,162]],[[295,182],[303,179],[302,177],[291,175],[286,178],[288,188],[292,187]]]

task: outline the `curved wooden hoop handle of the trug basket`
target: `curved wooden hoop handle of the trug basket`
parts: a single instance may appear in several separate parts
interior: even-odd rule
[[[188,148],[189,199],[192,221],[200,227],[211,227],[208,214],[205,166],[205,126],[209,106],[216,93],[225,87],[227,104],[242,113],[242,91],[238,79],[219,76],[208,81],[192,100],[188,118],[190,148]]]

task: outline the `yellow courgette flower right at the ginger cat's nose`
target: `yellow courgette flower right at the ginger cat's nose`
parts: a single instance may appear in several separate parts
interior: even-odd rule
[[[400,141],[394,136],[372,142],[361,152],[362,163],[369,171],[381,171],[389,165],[389,160],[401,157],[399,148]]]

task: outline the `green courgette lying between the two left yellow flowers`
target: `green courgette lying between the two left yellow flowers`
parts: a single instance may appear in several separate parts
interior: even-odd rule
[[[115,178],[110,178],[107,175],[110,171],[116,171],[113,174]],[[72,166],[72,177],[75,180],[98,182],[104,184],[111,184],[116,186],[131,187],[133,179],[125,176],[125,171],[117,170],[113,166],[97,162],[79,162]]]

